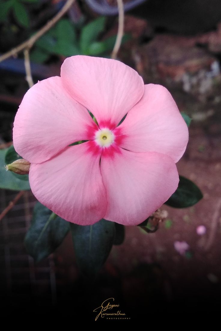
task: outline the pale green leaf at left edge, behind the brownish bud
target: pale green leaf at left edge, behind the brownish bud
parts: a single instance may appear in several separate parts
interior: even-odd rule
[[[18,175],[18,177],[15,176],[14,173],[6,171],[5,156],[7,151],[8,149],[0,150],[0,188],[15,191],[30,190],[29,182],[26,180],[21,180],[21,175]]]

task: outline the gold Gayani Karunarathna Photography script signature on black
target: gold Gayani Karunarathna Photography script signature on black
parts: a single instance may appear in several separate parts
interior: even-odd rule
[[[100,307],[94,309],[94,312],[97,312],[97,316],[95,321],[98,317],[106,318],[106,319],[131,319],[130,317],[126,317],[124,312],[121,312],[119,304],[113,304],[114,298],[109,298],[102,302]]]

